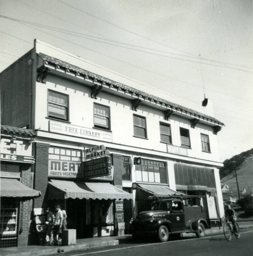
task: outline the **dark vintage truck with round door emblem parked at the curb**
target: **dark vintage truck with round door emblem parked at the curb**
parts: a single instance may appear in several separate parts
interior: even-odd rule
[[[151,210],[140,212],[137,219],[130,221],[133,238],[155,234],[160,242],[166,242],[170,236],[181,236],[183,232],[193,232],[202,238],[205,228],[210,228],[202,206],[183,205],[183,198],[151,199]]]

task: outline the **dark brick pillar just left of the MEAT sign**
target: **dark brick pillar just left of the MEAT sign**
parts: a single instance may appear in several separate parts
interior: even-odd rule
[[[45,191],[48,186],[49,144],[35,143],[34,189],[40,190],[41,196],[34,200],[34,208],[43,207]]]

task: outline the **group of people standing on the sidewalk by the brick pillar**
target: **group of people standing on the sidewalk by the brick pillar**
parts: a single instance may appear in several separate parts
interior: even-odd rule
[[[44,209],[45,223],[41,223],[39,218],[35,217],[36,230],[39,235],[39,243],[46,245],[58,245],[62,238],[62,230],[67,229],[67,215],[60,205],[55,205],[54,211],[50,207]]]

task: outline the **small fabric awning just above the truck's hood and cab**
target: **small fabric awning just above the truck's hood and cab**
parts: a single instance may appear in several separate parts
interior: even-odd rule
[[[186,196],[166,185],[137,184],[136,200],[147,200],[149,196],[168,197]]]

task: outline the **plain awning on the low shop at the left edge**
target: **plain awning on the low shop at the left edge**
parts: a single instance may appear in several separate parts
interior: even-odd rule
[[[34,198],[40,191],[32,189],[16,179],[1,178],[1,197]]]

